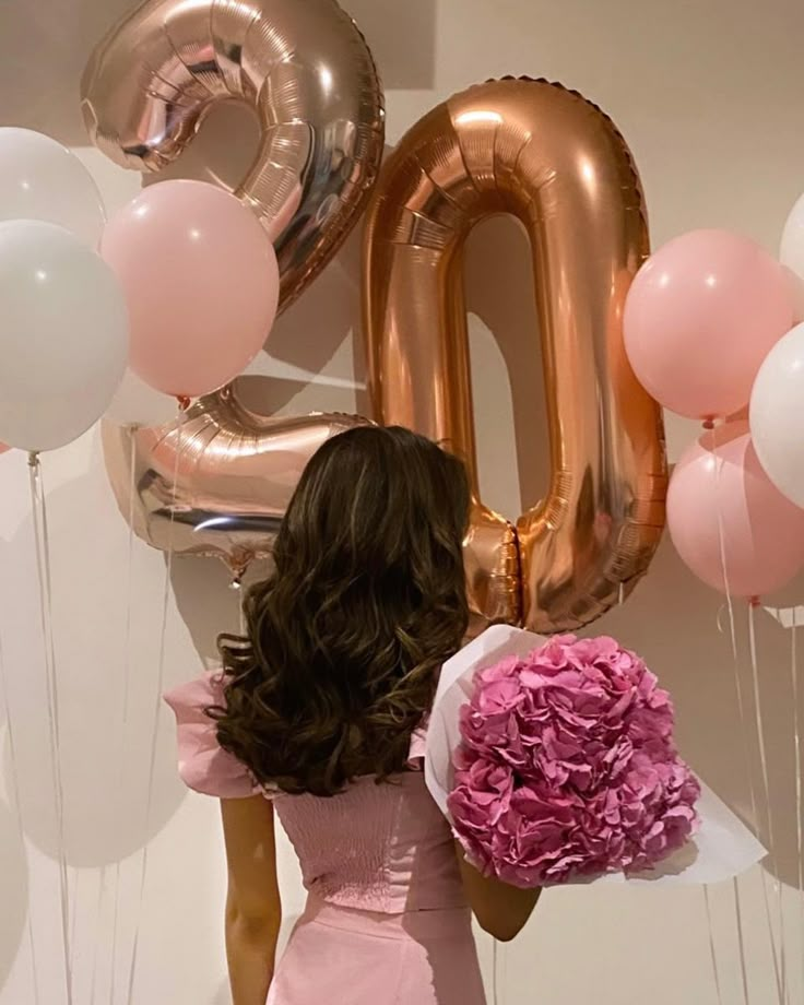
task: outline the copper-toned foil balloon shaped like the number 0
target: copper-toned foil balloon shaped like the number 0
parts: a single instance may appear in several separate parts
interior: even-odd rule
[[[533,249],[553,463],[546,498],[516,531],[480,499],[462,279],[470,230],[496,213],[517,216]],[[661,413],[623,347],[625,296],[647,253],[625,141],[594,105],[546,81],[456,95],[383,166],[365,247],[376,417],[469,460],[466,565],[487,620],[540,632],[584,625],[653,556],[666,489]]]

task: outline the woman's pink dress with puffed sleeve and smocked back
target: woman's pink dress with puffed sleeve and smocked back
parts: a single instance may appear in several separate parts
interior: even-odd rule
[[[198,792],[248,797],[261,790],[204,714],[221,685],[206,675],[166,696],[179,771]],[[381,785],[363,778],[332,799],[267,795],[308,895],[267,1005],[484,1005],[452,835],[425,788],[423,753],[417,734],[413,770]]]

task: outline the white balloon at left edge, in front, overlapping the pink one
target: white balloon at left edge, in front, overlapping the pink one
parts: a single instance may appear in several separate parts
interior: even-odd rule
[[[0,224],[0,440],[52,450],[108,409],[128,314],[111,269],[54,224]]]

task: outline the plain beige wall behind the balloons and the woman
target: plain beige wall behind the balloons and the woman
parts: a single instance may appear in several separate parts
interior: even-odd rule
[[[0,122],[43,129],[78,147],[111,208],[137,191],[139,179],[82,149],[74,92],[92,39],[128,5],[127,0],[3,0],[0,7]],[[352,0],[347,5],[366,31],[386,79],[389,143],[434,103],[466,84],[503,73],[544,75],[594,98],[622,128],[646,184],[654,244],[694,226],[714,225],[745,230],[775,248],[785,211],[804,189],[804,7],[797,0]],[[217,118],[184,167],[198,172],[206,159],[224,178],[233,178],[251,140],[247,120]],[[527,255],[516,228],[492,222],[474,237],[466,270],[486,499],[510,516],[519,512],[521,500],[537,498],[545,482],[541,374],[537,359],[521,344],[533,316]],[[257,388],[267,411],[364,406],[365,395],[353,387],[362,379],[359,348],[353,344],[357,318],[358,253],[352,240],[272,335],[271,356],[259,365],[270,379]],[[253,386],[249,393],[255,393]],[[672,459],[691,431],[686,424],[670,422]],[[126,980],[139,917],[140,853],[150,841],[134,1002],[223,1005],[228,998],[220,932],[224,875],[217,811],[211,802],[186,795],[177,783],[172,729],[164,713],[147,827],[143,819],[163,557],[139,542],[134,545],[127,657],[128,537],[105,481],[96,433],[46,458],[45,474],[64,705],[61,755],[75,905],[75,1001],[109,1002],[118,863],[120,980]],[[7,737],[0,771],[0,1003],[35,1001],[25,933],[29,905],[39,1000],[60,1005],[57,839],[24,459],[0,459],[0,631],[28,852],[26,866],[10,808]],[[801,590],[793,590],[781,602],[801,596]],[[749,815],[730,642],[718,628],[720,606],[720,599],[693,580],[665,543],[632,600],[600,627],[649,659],[675,695],[681,738],[694,766]],[[736,613],[741,674],[753,721],[745,612]],[[791,635],[768,612],[760,611],[757,620],[777,873],[784,884],[792,971],[790,1002],[804,1003],[804,933],[796,927],[801,901],[794,889]],[[212,657],[215,632],[236,624],[236,598],[226,590],[223,569],[177,563],[166,683],[197,673]],[[137,737],[127,745],[121,772],[117,723],[127,659]],[[0,725],[4,719],[0,710]],[[752,735],[747,744],[764,817]],[[762,831],[767,839],[767,828]],[[284,847],[282,855],[292,918],[300,894]],[[778,927],[775,883],[773,876],[767,879]],[[759,870],[741,880],[738,892],[750,1002],[766,1005],[777,997]],[[722,1001],[740,1005],[732,886],[713,889],[711,905]],[[483,951],[488,962],[486,943]],[[714,1005],[704,894],[549,892],[521,941],[501,954],[499,978],[500,1000],[510,1005]]]

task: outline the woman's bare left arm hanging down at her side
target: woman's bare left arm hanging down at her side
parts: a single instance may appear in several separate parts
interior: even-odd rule
[[[228,862],[226,956],[233,1005],[265,1005],[282,921],[273,806],[258,795],[222,800],[221,809]]]

